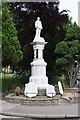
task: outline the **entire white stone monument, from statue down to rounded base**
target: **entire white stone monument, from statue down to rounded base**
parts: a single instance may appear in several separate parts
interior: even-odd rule
[[[38,95],[39,89],[45,89],[46,95],[53,97],[56,92],[54,86],[48,84],[48,77],[46,76],[47,63],[43,59],[43,50],[47,42],[40,37],[43,27],[39,17],[37,17],[35,22],[35,28],[36,35],[31,43],[34,50],[34,59],[31,62],[31,77],[29,78],[29,83],[25,84],[24,94],[28,97],[35,97]]]

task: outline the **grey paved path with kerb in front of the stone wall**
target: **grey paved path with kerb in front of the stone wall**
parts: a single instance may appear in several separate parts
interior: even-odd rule
[[[0,114],[25,118],[77,118],[80,117],[78,106],[79,104],[26,106],[0,100]]]

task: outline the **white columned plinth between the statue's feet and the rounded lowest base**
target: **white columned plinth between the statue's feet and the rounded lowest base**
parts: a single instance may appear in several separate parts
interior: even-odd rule
[[[45,47],[45,40],[41,37],[37,37],[31,43],[34,49],[34,60],[31,63],[31,77],[30,82],[35,82],[39,88],[43,88],[45,84],[48,84],[48,78],[46,76],[47,63],[43,59],[43,50]]]

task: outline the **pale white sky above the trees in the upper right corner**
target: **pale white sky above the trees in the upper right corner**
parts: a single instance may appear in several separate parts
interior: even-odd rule
[[[59,0],[59,11],[62,11],[64,9],[70,10],[71,12],[68,12],[69,16],[72,17],[72,22],[75,22],[78,24],[78,2],[80,0]]]

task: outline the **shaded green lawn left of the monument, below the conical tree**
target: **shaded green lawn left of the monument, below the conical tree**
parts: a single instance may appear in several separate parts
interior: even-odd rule
[[[14,91],[16,87],[23,87],[25,84],[24,78],[20,78],[19,76],[13,75],[13,74],[2,74],[0,76],[2,80],[0,79],[0,92],[2,91],[3,93],[9,93]]]

